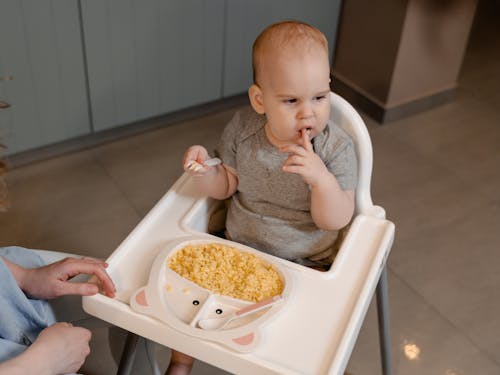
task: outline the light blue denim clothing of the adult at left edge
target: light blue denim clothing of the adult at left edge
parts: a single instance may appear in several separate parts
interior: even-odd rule
[[[25,268],[45,264],[35,252],[17,246],[0,248],[0,257]],[[27,296],[0,258],[0,362],[22,353],[54,323],[48,302]]]

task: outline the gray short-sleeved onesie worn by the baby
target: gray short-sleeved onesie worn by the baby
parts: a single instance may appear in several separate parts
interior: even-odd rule
[[[228,234],[234,241],[288,260],[331,257],[337,231],[314,224],[309,188],[300,175],[283,172],[288,155],[268,141],[265,121],[264,115],[251,110],[237,112],[216,148],[217,156],[238,175],[227,213]],[[347,133],[329,122],[313,146],[341,188],[354,190],[357,162]]]

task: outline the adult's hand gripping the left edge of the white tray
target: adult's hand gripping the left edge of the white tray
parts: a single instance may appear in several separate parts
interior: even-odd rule
[[[107,263],[92,258],[65,258],[47,266],[27,269],[20,287],[26,293],[40,299],[52,299],[68,294],[90,296],[102,289],[108,297],[114,297],[115,286],[106,272]],[[76,275],[95,275],[93,282],[70,282]]]

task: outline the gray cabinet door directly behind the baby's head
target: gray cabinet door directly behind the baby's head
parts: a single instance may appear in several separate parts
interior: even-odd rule
[[[328,39],[330,54],[341,0],[229,0],[223,96],[246,92],[252,84],[252,44],[268,25],[285,19],[307,22]]]

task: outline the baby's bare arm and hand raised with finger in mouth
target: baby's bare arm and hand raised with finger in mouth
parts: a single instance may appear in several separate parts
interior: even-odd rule
[[[285,161],[285,172],[297,173],[311,188],[311,216],[320,229],[337,230],[346,226],[354,213],[354,191],[341,189],[335,176],[314,152],[306,132],[301,145],[281,148],[290,156]]]

